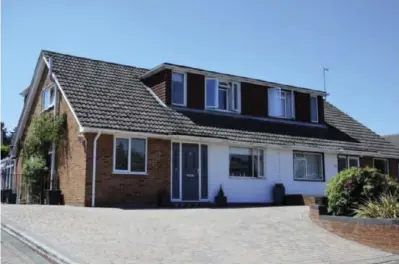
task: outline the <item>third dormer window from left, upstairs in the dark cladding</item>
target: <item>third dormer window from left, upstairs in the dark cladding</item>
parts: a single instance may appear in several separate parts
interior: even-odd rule
[[[280,88],[268,90],[269,116],[283,119],[294,119],[294,92]]]

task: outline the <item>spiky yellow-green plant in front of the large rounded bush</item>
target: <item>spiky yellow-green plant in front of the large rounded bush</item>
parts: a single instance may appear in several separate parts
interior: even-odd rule
[[[356,217],[399,219],[399,195],[382,194],[376,201],[369,200],[358,209]]]

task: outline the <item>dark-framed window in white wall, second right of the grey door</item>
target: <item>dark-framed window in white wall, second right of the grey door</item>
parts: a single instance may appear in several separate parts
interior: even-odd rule
[[[323,155],[294,151],[294,180],[324,181]]]

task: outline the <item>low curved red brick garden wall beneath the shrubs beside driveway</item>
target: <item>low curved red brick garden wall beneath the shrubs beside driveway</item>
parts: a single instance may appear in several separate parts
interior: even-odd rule
[[[399,253],[399,224],[364,224],[320,219],[317,206],[309,207],[309,217],[324,229],[343,238],[384,251]]]

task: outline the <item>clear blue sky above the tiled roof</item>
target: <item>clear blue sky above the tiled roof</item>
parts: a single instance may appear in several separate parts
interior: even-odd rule
[[[42,49],[154,67],[172,62],[313,89],[380,134],[399,133],[399,1],[3,0],[2,121]]]

